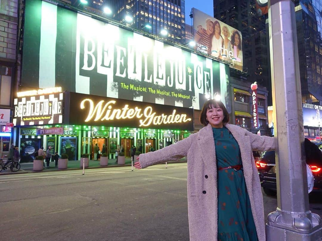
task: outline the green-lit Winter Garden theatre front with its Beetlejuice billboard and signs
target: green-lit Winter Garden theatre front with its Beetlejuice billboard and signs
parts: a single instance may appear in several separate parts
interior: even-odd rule
[[[22,162],[41,146],[70,160],[93,158],[96,144],[109,158],[117,145],[157,150],[202,127],[205,94],[229,96],[228,65],[47,1],[26,1],[22,56],[12,116]]]

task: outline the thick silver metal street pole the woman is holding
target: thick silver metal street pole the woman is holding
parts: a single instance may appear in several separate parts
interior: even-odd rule
[[[278,207],[268,215],[266,240],[322,240],[321,219],[308,203],[295,6],[268,4]]]

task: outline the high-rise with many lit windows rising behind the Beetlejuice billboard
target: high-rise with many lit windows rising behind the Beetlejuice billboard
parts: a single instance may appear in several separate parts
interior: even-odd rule
[[[130,15],[131,27],[154,35],[166,29],[166,39],[185,43],[185,0],[107,0],[106,3],[112,6],[113,19],[123,22]],[[146,24],[152,28],[146,28]]]

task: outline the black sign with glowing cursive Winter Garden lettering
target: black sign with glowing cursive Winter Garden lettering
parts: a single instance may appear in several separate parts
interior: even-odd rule
[[[68,97],[69,95],[69,97]],[[66,93],[66,119],[74,125],[194,130],[194,109]],[[65,121],[65,124],[67,120]]]

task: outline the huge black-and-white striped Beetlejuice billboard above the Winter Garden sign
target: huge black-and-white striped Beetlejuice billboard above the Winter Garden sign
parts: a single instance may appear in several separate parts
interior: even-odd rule
[[[207,93],[229,101],[228,65],[48,2],[25,2],[22,86],[197,110]]]

